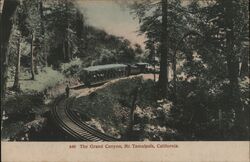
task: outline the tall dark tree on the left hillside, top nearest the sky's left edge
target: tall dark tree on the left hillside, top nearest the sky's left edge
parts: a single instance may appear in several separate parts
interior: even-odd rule
[[[51,1],[49,11],[45,20],[47,22],[45,39],[46,44],[49,44],[48,48],[57,52],[53,52],[48,59],[53,57],[59,62],[68,62],[76,53],[79,53],[77,45],[81,42],[79,36],[80,30],[83,29],[79,28],[83,22],[80,19],[83,17],[74,7],[72,0]]]

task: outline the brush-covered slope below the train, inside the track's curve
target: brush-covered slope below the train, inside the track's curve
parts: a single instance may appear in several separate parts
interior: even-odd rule
[[[141,76],[117,79],[77,92],[70,109],[79,120],[121,140],[169,140],[178,132],[166,127],[171,102],[157,101],[155,84]]]

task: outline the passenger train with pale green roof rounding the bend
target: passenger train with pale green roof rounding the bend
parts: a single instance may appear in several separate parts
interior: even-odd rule
[[[84,68],[80,71],[80,80],[86,86],[104,83],[112,79],[149,72],[148,63],[107,64]]]

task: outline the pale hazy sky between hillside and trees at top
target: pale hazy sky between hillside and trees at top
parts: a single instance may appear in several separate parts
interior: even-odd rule
[[[136,32],[139,29],[138,20],[124,5],[112,0],[78,0],[77,5],[90,25],[144,47],[145,37],[138,36]]]

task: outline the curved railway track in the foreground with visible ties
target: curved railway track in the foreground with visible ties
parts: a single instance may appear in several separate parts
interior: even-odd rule
[[[82,122],[79,117],[69,109],[74,98],[60,96],[56,99],[51,110],[55,123],[67,134],[80,141],[118,141],[114,137],[104,134],[88,124]]]

